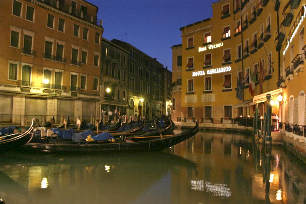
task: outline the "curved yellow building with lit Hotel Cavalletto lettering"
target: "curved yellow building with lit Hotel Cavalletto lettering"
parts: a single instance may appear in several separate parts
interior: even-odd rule
[[[305,4],[300,0],[220,0],[211,5],[212,18],[180,28],[182,65],[173,65],[173,72],[181,69],[182,121],[187,124],[202,118],[204,127],[229,127],[233,118],[253,117],[256,104],[263,115],[268,93],[272,95],[272,112],[280,121],[289,122],[289,105],[285,102],[289,98],[293,98],[291,106],[296,111],[291,113],[300,112],[302,120],[304,111],[296,107],[304,110],[304,106],[297,106],[297,97],[302,95],[304,100],[300,91]],[[293,36],[290,43],[286,43],[288,36]],[[179,53],[174,47],[172,50],[173,56]],[[295,71],[290,75],[288,69]],[[297,124],[298,118],[292,119],[293,115],[291,124]]]

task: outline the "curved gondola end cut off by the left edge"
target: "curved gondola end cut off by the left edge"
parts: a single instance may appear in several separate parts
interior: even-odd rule
[[[0,137],[0,154],[14,150],[28,143],[33,137],[33,129],[36,119],[32,119],[30,128],[23,134],[12,134]]]

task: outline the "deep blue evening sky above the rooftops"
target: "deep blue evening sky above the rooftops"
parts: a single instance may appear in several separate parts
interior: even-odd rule
[[[212,17],[217,0],[87,0],[99,7],[103,37],[123,40],[172,70],[171,46],[181,44],[179,28]],[[125,36],[125,33],[127,35]]]

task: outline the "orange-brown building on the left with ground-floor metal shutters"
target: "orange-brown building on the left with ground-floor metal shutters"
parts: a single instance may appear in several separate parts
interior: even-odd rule
[[[0,10],[0,113],[7,114],[1,122],[99,116],[98,7],[84,0],[11,0]]]

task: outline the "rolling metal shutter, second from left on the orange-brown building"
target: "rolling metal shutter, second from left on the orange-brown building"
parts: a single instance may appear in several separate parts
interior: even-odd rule
[[[25,98],[25,115],[27,123],[32,122],[32,118],[36,117],[41,122],[43,115],[47,114],[47,99],[41,98]]]

